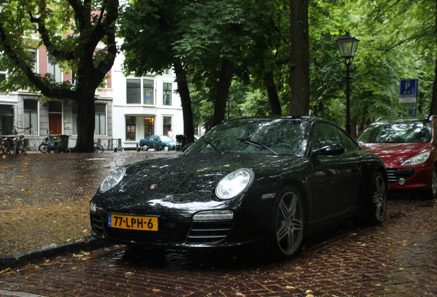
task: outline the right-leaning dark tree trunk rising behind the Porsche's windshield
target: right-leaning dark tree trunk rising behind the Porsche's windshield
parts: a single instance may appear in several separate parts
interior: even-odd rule
[[[234,70],[234,62],[223,59],[221,63],[221,72],[219,83],[217,83],[216,104],[214,107],[214,118],[212,126],[216,126],[223,122],[226,113],[226,100],[229,94],[229,87],[232,83],[232,71]]]

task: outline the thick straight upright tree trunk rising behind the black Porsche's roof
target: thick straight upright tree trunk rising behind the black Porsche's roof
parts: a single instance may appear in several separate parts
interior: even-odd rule
[[[308,0],[290,0],[290,115],[309,113]]]

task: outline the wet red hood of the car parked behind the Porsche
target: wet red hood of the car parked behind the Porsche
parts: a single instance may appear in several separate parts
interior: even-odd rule
[[[401,165],[407,159],[431,150],[426,143],[360,143],[364,151],[379,155],[387,168]]]

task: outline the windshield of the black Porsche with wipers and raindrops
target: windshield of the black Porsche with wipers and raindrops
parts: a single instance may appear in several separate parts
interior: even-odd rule
[[[309,123],[302,120],[236,120],[209,131],[186,153],[265,153],[303,156]]]

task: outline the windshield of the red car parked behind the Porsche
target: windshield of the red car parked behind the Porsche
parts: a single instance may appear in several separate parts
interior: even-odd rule
[[[373,124],[357,138],[357,142],[361,143],[423,143],[429,141],[431,141],[429,122]]]

